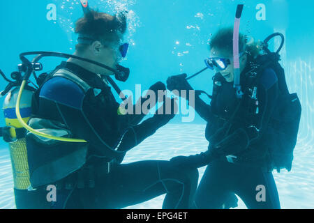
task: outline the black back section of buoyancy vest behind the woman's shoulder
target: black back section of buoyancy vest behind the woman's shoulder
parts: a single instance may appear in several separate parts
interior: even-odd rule
[[[293,151],[297,144],[297,135],[301,119],[301,103],[297,93],[290,93],[285,81],[285,70],[278,62],[278,53],[270,53],[260,56],[257,64],[263,68],[271,68],[276,73],[278,79],[278,100],[274,112],[269,120],[267,131],[264,138],[267,139],[269,155],[271,157],[271,169],[280,172],[281,169],[290,171],[292,168]],[[251,88],[257,85],[253,77]]]

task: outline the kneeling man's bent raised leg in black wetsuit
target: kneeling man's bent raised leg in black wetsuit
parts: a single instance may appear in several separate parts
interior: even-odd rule
[[[119,164],[98,180],[89,208],[124,208],[167,193],[163,208],[190,208],[197,187],[198,171],[177,169],[168,161]],[[85,201],[83,201],[85,202]]]

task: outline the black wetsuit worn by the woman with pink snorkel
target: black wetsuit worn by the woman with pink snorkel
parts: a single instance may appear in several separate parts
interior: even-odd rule
[[[242,82],[242,79],[244,78],[241,77],[242,87],[246,89],[247,83]],[[239,105],[233,83],[227,83],[223,78],[220,80],[221,86],[218,86],[210,106],[200,98],[195,100],[195,110],[208,122],[206,137],[210,144],[217,142],[213,135],[230,119]],[[230,147],[247,145],[247,149],[237,154],[237,159],[227,160],[226,157],[221,157],[209,162],[195,194],[197,208],[223,208],[234,194],[237,194],[248,208],[280,208],[276,184],[269,171],[271,161],[267,153],[265,134],[277,97],[278,80],[274,70],[263,70],[257,82],[257,100],[251,100],[244,95],[244,104],[239,107],[229,130],[230,134],[237,134],[236,130],[239,129],[246,132],[246,137],[235,135],[234,139],[237,141],[230,142]],[[258,103],[258,109],[250,105],[250,100]],[[259,185],[265,187],[266,201],[257,201],[260,196],[257,194],[260,192]]]

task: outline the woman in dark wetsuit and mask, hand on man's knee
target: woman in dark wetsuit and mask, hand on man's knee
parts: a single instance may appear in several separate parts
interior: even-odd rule
[[[232,28],[220,29],[210,42],[207,63],[216,71],[211,104],[207,105],[195,93],[195,110],[207,121],[209,149],[198,155],[174,157],[172,162],[180,167],[208,164],[197,187],[196,208],[224,208],[234,194],[248,208],[280,208],[265,134],[276,106],[278,79],[271,68],[256,69],[259,65],[255,61],[260,54],[258,45],[247,45],[246,38],[240,34],[244,95],[238,100],[233,87],[232,38]],[[258,77],[256,89],[250,89],[252,77]],[[167,88],[170,91],[191,90],[185,78],[186,75],[170,77]]]

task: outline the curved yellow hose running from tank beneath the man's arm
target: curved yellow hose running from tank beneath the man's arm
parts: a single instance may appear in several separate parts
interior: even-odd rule
[[[33,132],[33,134],[37,134],[40,137],[45,137],[45,138],[48,138],[48,139],[54,139],[54,140],[58,140],[58,141],[70,141],[70,142],[87,142],[84,139],[71,139],[71,138],[65,138],[65,137],[54,137],[51,134],[45,134],[43,132],[39,132],[38,130],[34,130],[29,125],[27,125],[27,123],[24,122],[24,120],[22,119],[22,116],[20,114],[20,100],[21,100],[21,97],[22,97],[22,93],[23,93],[25,84],[26,84],[26,81],[24,80],[22,82],[21,87],[20,87],[19,94],[17,95],[17,102],[16,102],[16,106],[15,106],[15,112],[16,112],[17,120],[21,123],[21,125],[24,128],[29,130],[29,132]]]

